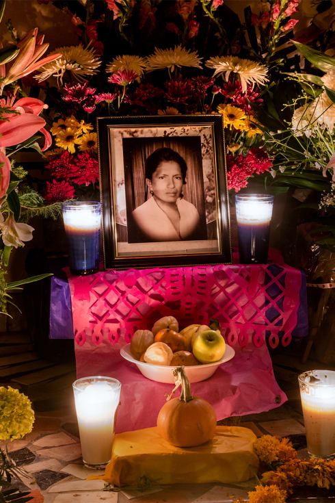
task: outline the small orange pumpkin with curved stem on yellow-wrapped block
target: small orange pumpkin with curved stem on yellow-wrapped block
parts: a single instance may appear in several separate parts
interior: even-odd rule
[[[189,380],[183,367],[176,367],[174,376],[181,380],[181,395],[163,405],[157,417],[157,429],[172,446],[201,446],[215,435],[215,410],[206,400],[191,396]]]

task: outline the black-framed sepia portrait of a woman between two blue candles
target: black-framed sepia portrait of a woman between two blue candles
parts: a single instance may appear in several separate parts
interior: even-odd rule
[[[97,125],[105,268],[230,263],[222,115]]]

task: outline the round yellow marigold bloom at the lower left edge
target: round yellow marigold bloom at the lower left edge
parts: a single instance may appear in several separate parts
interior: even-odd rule
[[[35,415],[31,401],[18,389],[0,387],[0,440],[24,437],[33,429]]]

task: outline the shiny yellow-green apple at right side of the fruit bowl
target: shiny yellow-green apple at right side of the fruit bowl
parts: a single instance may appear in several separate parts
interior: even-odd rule
[[[192,351],[201,363],[214,363],[224,356],[226,343],[219,333],[214,330],[205,330],[193,341]]]

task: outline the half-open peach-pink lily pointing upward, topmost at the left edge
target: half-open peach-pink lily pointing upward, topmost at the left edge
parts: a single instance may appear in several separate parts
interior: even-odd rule
[[[42,60],[38,61],[38,59],[45,53],[46,49],[48,49],[49,44],[43,44],[44,35],[38,37],[37,34],[38,28],[31,29],[31,31],[29,31],[29,33],[20,40],[20,42],[18,42],[17,47],[20,49],[20,52],[14,62],[10,65],[7,72],[5,65],[0,65],[0,76],[4,77],[3,82],[1,83],[1,90],[9,83],[29,75],[29,73],[38,70],[40,66],[57,60],[60,56],[60,54],[52,54],[43,57]]]

